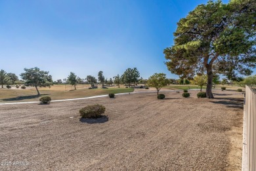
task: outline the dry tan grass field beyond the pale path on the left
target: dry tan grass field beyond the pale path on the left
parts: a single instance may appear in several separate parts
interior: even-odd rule
[[[133,88],[81,88],[77,90],[63,91],[58,88],[39,88],[40,96],[37,96],[35,88],[16,90],[0,88],[0,103],[4,102],[32,102],[39,101],[42,96],[51,96],[52,100],[62,100],[70,98],[85,98],[89,96],[98,96],[109,93],[133,92]]]

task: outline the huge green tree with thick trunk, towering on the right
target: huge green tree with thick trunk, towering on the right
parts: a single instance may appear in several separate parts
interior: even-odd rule
[[[188,78],[206,72],[207,98],[213,98],[213,71],[250,75],[256,62],[255,9],[253,0],[198,5],[179,20],[174,45],[164,50],[169,71]]]

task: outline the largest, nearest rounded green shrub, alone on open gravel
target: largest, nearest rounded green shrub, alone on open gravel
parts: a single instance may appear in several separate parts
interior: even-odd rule
[[[97,118],[101,117],[101,114],[105,112],[104,105],[95,104],[87,105],[79,110],[80,116],[84,118]]]

